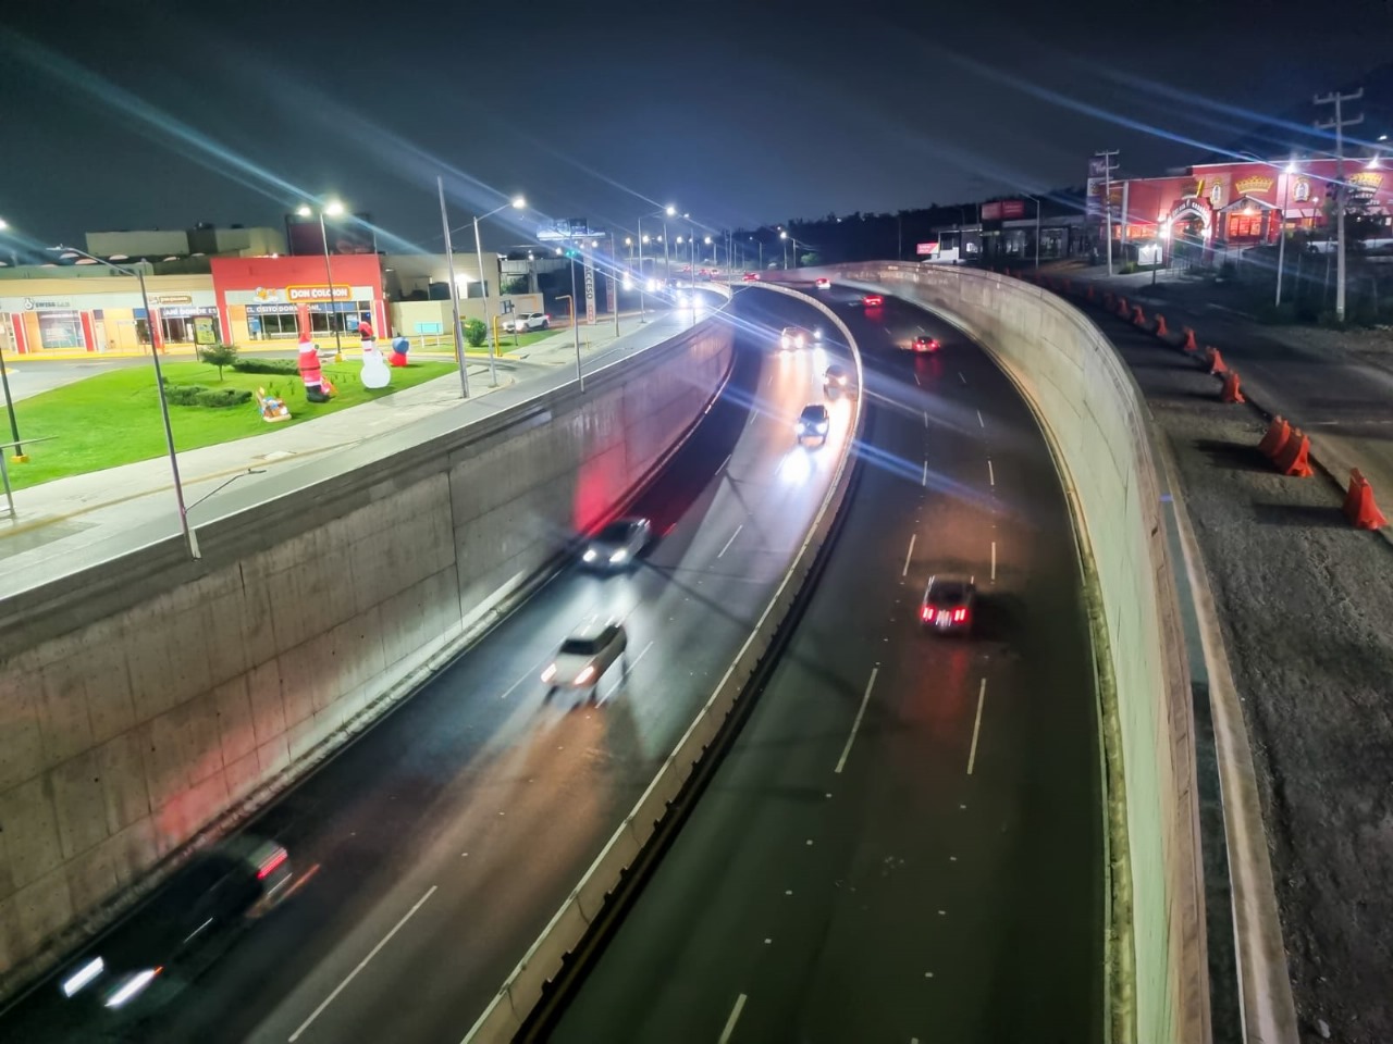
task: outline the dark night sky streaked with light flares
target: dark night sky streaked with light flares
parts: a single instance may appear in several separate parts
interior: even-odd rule
[[[336,195],[439,251],[437,174],[456,224],[527,193],[499,248],[669,200],[719,228],[1041,191],[1102,148],[1194,160],[1245,128],[1206,103],[1286,110],[1393,42],[1389,0],[3,7],[0,216],[47,242]]]

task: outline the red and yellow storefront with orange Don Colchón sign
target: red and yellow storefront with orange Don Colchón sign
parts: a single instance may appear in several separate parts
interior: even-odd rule
[[[364,320],[386,334],[376,255],[334,256],[329,273],[323,258],[213,258],[212,266],[223,340],[238,347],[294,344],[302,316],[316,342],[357,337]]]

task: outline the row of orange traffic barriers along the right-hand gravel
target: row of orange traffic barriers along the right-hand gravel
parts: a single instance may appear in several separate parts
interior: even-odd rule
[[[1039,285],[1045,285],[1056,292],[1074,294],[1074,290],[1068,280],[1064,280],[1063,288],[1049,277],[1039,276],[1036,273],[1010,273],[1015,274],[1018,278],[1024,276]],[[1098,303],[1098,298],[1094,294],[1094,287],[1088,285],[1082,292],[1082,296],[1089,303]],[[1146,313],[1142,310],[1141,305],[1131,305],[1126,296],[1120,294],[1113,294],[1110,290],[1105,290],[1102,294],[1103,310],[1116,315],[1119,319],[1130,322],[1133,326],[1146,330],[1156,338],[1167,345],[1180,348],[1183,352],[1191,356],[1198,356],[1201,365],[1209,367],[1209,373],[1220,377],[1222,384],[1219,387],[1219,401],[1226,404],[1245,402],[1243,394],[1243,381],[1238,377],[1238,372],[1231,369],[1223,359],[1223,355],[1217,348],[1206,345],[1205,349],[1199,351],[1199,340],[1195,331],[1185,326],[1181,327],[1180,342],[1172,338],[1170,330],[1166,326],[1166,317],[1156,313],[1155,326],[1146,322]],[[1293,427],[1283,418],[1273,418],[1272,423],[1268,426],[1266,434],[1258,443],[1258,450],[1276,466],[1282,475],[1291,477],[1308,477],[1314,473],[1311,468],[1311,438],[1300,427]],[[1350,523],[1357,529],[1380,529],[1387,525],[1387,518],[1379,511],[1378,504],[1373,500],[1373,487],[1369,486],[1369,480],[1364,477],[1358,468],[1350,472],[1350,487],[1344,497],[1344,516],[1350,519]]]

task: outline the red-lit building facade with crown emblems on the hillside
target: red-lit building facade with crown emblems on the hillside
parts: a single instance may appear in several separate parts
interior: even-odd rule
[[[1113,239],[1238,249],[1275,244],[1283,224],[1289,232],[1322,237],[1330,227],[1328,191],[1337,180],[1336,160],[1305,159],[1199,164],[1183,177],[1114,181]],[[1387,224],[1393,161],[1385,167],[1378,159],[1346,160],[1344,180],[1350,198]]]

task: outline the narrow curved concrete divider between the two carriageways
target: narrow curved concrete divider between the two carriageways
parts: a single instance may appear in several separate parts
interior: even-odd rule
[[[861,366],[861,352],[851,331],[837,315],[805,294],[770,285],[762,285],[761,290],[795,298],[820,310],[846,338],[857,366],[857,387],[864,393],[865,374]],[[736,654],[696,718],[663,761],[648,789],[610,837],[595,862],[591,863],[571,895],[552,916],[542,934],[528,948],[522,960],[504,980],[493,1001],[464,1036],[462,1044],[504,1044],[513,1040],[524,1020],[542,999],[542,987],[557,976],[566,956],[581,944],[585,933],[603,909],[605,901],[620,884],[624,871],[632,866],[639,849],[653,837],[657,824],[671,809],[673,800],[691,778],[695,766],[710,749],[713,738],[730,717],[759,661],[783,626],[827,540],[832,523],[846,498],[850,479],[848,464],[855,459],[855,447],[861,440],[865,419],[862,404],[864,394],[858,394],[851,437],[843,448],[827,494],[823,497],[793,565],[784,574],[779,589],[765,607],[749,638]]]

